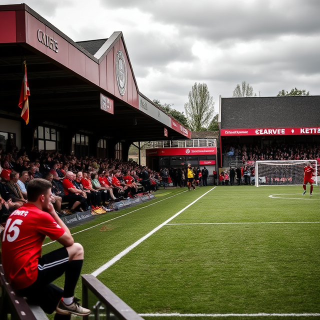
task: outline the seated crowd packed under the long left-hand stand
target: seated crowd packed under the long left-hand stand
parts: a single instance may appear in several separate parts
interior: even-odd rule
[[[2,222],[27,201],[26,186],[34,178],[51,182],[52,202],[59,214],[88,209],[102,213],[107,203],[153,192],[160,183],[158,173],[131,160],[40,153],[36,148],[28,153],[25,148],[12,153],[0,150]],[[68,202],[67,212],[61,209],[62,202]]]

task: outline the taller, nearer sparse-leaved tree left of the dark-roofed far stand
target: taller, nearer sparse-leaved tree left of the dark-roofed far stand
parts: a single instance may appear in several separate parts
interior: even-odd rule
[[[184,103],[184,110],[192,131],[203,131],[214,114],[213,97],[205,83],[196,82],[188,94],[189,102]]]

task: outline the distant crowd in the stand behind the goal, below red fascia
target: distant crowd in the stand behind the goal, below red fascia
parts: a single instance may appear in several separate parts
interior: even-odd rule
[[[274,143],[225,145],[224,153],[241,156],[243,163],[256,160],[312,160],[320,158],[320,143]]]

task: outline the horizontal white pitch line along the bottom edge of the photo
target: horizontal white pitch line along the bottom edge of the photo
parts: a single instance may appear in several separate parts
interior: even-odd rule
[[[319,316],[320,313],[139,313],[140,316]]]

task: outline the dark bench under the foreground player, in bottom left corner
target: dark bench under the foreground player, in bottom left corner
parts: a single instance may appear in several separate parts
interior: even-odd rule
[[[48,320],[38,305],[29,305],[22,296],[14,292],[4,277],[2,264],[0,264],[0,287],[1,320]]]

